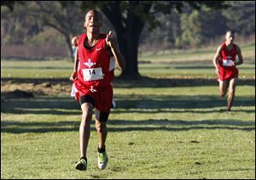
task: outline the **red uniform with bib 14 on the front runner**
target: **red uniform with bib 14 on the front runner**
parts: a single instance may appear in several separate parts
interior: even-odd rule
[[[86,34],[79,37],[78,78],[73,82],[72,92],[80,104],[93,104],[101,112],[109,112],[113,107],[114,59],[108,55],[106,37],[107,34],[100,34],[92,48],[84,47]]]

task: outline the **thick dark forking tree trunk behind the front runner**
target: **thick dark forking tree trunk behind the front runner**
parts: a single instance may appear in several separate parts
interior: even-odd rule
[[[152,3],[129,1],[126,17],[123,15],[124,12],[121,11],[120,4],[119,1],[108,3],[108,6],[106,5],[102,8],[102,12],[113,24],[120,51],[125,57],[126,68],[122,71],[120,77],[138,78],[140,77],[137,60],[138,43],[145,21],[134,11],[138,6],[141,6],[143,13],[148,14]]]

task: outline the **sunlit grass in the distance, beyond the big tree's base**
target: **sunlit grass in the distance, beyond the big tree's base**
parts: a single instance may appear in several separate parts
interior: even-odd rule
[[[240,78],[255,79],[255,44],[241,48],[244,64],[238,66]],[[141,75],[150,77],[216,78],[212,65],[214,52],[212,49],[202,49],[164,54],[143,53],[138,59],[148,63],[139,64],[138,69]],[[2,78],[67,78],[72,70],[73,62],[68,60],[1,60]],[[116,70],[115,74],[119,76],[120,71]]]

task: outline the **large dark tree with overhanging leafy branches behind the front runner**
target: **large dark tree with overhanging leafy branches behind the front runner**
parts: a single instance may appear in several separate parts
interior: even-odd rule
[[[212,1],[83,1],[81,8],[99,8],[108,17],[116,31],[121,53],[126,59],[126,68],[121,77],[137,78],[138,42],[143,27],[148,23],[149,29],[160,25],[155,14],[171,14],[173,9],[179,13],[185,5],[200,9],[201,6],[223,8],[224,2]]]

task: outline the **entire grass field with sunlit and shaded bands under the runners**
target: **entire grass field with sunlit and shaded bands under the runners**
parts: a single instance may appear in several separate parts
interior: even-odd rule
[[[170,62],[167,55],[140,56],[148,62],[139,64],[143,78],[114,82],[108,167],[97,168],[93,120],[86,172],[74,169],[81,111],[69,96],[72,63],[2,59],[1,178],[254,179],[254,48],[244,48],[251,55],[239,66],[230,112],[223,111],[212,60],[195,60],[212,52],[187,52],[189,59],[177,53]],[[15,89],[34,97],[15,96]]]

